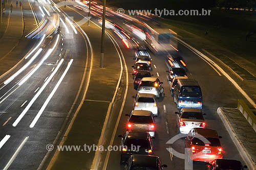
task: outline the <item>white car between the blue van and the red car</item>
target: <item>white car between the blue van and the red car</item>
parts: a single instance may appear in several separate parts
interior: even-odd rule
[[[201,109],[182,108],[177,114],[178,131],[183,134],[188,134],[193,128],[205,128],[203,113]]]

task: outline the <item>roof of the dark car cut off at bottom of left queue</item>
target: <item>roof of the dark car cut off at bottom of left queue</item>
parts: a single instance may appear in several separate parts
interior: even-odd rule
[[[158,159],[158,156],[153,155],[132,155],[133,165],[140,167],[156,168]]]

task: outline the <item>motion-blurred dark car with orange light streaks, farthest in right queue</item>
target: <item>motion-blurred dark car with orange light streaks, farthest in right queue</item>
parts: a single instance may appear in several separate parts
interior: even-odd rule
[[[184,61],[184,59],[179,54],[168,54],[167,55],[167,67],[170,68],[183,68],[185,71],[187,71],[187,65]]]

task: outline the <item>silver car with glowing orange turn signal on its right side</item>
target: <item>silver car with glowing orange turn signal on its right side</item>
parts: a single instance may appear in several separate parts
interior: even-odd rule
[[[138,93],[155,94],[157,98],[160,98],[164,91],[162,84],[163,82],[160,82],[158,78],[143,78],[140,81]]]

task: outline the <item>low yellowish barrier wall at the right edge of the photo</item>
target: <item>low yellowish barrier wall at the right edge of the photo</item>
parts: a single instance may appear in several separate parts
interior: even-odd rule
[[[253,114],[253,112],[242,99],[238,100],[238,109],[244,115],[244,117],[246,118],[250,126],[253,128],[253,130],[256,132],[256,116]]]

